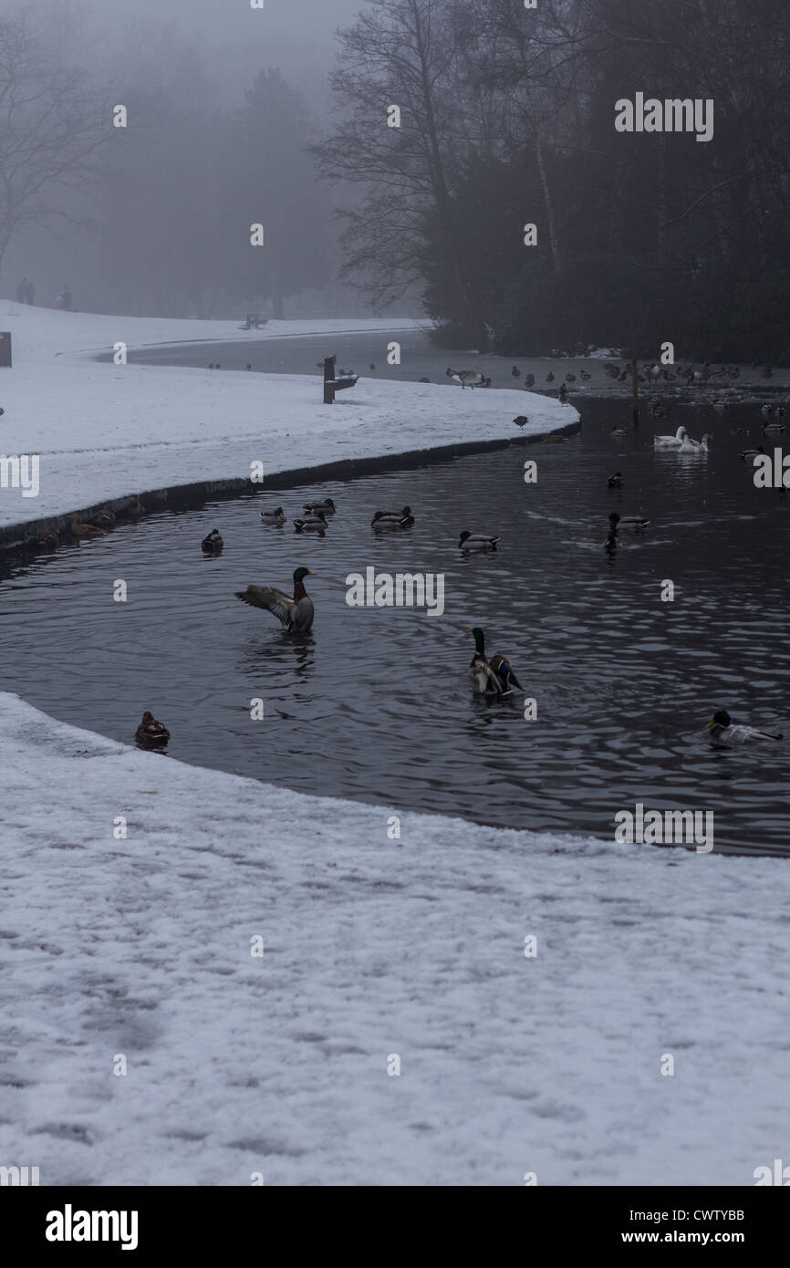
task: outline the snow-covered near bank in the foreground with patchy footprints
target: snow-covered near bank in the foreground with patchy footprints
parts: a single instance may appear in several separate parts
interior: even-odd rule
[[[308,799],[1,708],[4,1164],[661,1186],[786,1154],[784,864]]]

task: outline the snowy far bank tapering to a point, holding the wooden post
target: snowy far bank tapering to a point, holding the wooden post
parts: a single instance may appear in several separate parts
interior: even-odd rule
[[[468,440],[519,435],[578,418],[572,407],[525,392],[457,392],[421,383],[360,379],[322,403],[317,377],[243,374],[90,360],[169,339],[241,336],[232,322],[96,317],[19,308],[4,318],[14,369],[0,370],[0,453],[39,454],[41,491],[0,488],[0,525],[39,520],[112,497],[198,481],[246,478],[262,460],[274,473],[346,458],[397,454]],[[380,330],[382,349],[401,322],[270,322],[271,337],[326,330]],[[255,337],[251,332],[250,337]],[[264,486],[265,488],[265,486]]]

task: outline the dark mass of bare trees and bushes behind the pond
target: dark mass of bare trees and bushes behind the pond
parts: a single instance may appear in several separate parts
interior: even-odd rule
[[[340,46],[317,157],[372,297],[514,354],[790,360],[782,0],[369,0]],[[713,99],[713,139],[616,132],[637,93]]]

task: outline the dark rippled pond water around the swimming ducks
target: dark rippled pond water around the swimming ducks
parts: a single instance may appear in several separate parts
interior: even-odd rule
[[[567,444],[160,512],[42,557],[0,586],[4,682],[129,742],[148,708],[174,757],[304,792],[609,839],[635,801],[713,810],[716,850],[790,853],[790,498],[753,487],[738,459],[748,437],[729,435],[746,425],[760,443],[758,410],[676,407],[671,426],[648,420],[626,441],[610,436],[628,425],[623,403],[582,411]],[[653,451],[653,431],[678,422],[715,432],[708,459]],[[618,468],[625,488],[610,492]],[[340,510],[325,540],[261,526],[261,506],[290,519],[326,493]],[[375,536],[373,511],[406,502],[415,527]],[[610,510],[652,521],[614,557]],[[204,558],[214,526],[226,549]],[[463,527],[500,533],[498,553],[462,558]],[[232,596],[288,588],[299,564],[317,573],[317,616],[294,640]],[[369,566],[444,573],[444,615],[349,607],[346,574]],[[117,578],[127,604],[113,602]],[[664,579],[675,602],[661,601]],[[538,720],[521,694],[473,697],[472,624],[511,656]],[[789,738],[714,751],[703,728],[718,708]]]

